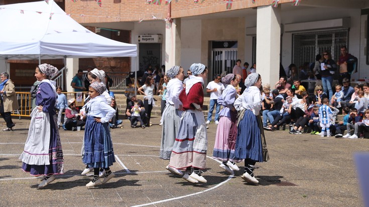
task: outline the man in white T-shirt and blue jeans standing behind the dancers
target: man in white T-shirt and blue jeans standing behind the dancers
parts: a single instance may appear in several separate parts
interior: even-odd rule
[[[219,123],[220,104],[218,104],[217,100],[218,100],[218,97],[222,94],[224,90],[224,85],[220,83],[220,79],[221,79],[220,75],[215,75],[214,81],[209,82],[206,86],[206,92],[210,93],[210,105],[209,105],[209,112],[207,114],[206,124],[210,124],[211,116],[214,110],[214,105],[216,106],[215,124]]]

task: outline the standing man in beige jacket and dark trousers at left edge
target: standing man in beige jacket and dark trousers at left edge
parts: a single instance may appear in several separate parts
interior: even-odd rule
[[[2,83],[0,84],[0,114],[7,123],[7,128],[3,131],[13,131],[15,124],[12,120],[12,111],[18,110],[18,99],[16,94],[16,87],[12,80],[9,79],[9,74],[4,72],[0,75]]]

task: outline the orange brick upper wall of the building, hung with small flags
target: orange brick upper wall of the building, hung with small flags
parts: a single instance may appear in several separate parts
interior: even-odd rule
[[[200,2],[201,0],[195,4],[192,0],[173,0],[170,11],[172,19],[229,11],[223,0]],[[293,0],[280,0],[281,4],[292,2]],[[273,0],[257,0],[255,4],[251,0],[233,0],[231,10],[256,8],[272,3]],[[152,15],[157,19],[164,19],[169,12],[168,7],[165,0],[162,0],[160,6],[148,4],[146,0],[104,0],[101,7],[94,0],[65,2],[65,12],[71,14],[78,23],[136,22],[141,19],[152,20]]]

